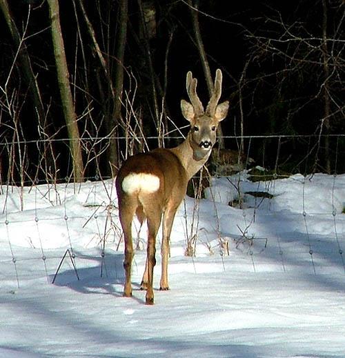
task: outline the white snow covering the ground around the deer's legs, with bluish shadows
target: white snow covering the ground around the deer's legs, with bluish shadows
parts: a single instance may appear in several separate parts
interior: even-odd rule
[[[155,306],[139,290],[145,250],[122,297],[112,180],[0,193],[0,357],[345,356],[345,175],[213,178],[177,212]]]

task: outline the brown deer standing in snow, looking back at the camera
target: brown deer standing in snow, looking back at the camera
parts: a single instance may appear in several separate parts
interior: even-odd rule
[[[181,99],[181,112],[190,122],[186,139],[175,148],[156,148],[132,155],[124,161],[115,178],[119,220],[124,232],[124,297],[132,296],[131,267],[134,256],[132,220],[147,220],[147,256],[141,290],[146,290],[146,304],[154,304],[153,268],[156,264],[156,236],[162,227],[160,290],[169,290],[168,256],[170,233],[175,214],[186,195],[188,181],[210,157],[217,139],[217,127],[228,114],[229,102],[218,104],[222,73],[217,69],[213,93],[206,110],[197,96],[197,79],[186,76],[190,102]]]

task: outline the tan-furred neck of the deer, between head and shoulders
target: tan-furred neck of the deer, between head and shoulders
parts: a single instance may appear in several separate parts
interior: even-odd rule
[[[195,173],[201,169],[202,166],[206,163],[208,157],[210,157],[210,152],[205,152],[201,150],[197,143],[193,142],[190,132],[188,133],[187,138],[177,147],[170,149],[181,161],[184,166],[188,180],[195,175]]]

